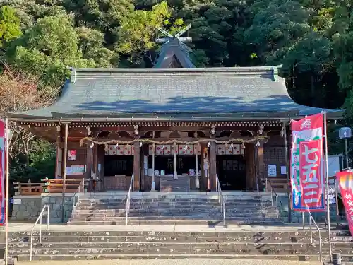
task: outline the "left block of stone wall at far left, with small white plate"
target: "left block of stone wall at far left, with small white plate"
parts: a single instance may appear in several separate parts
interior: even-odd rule
[[[42,211],[41,196],[13,196],[13,204],[11,221],[35,221]]]

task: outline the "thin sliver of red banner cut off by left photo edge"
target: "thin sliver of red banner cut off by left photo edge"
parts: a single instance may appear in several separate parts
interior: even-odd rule
[[[0,225],[5,225],[5,172],[6,172],[6,139],[5,139],[5,122],[0,120]]]

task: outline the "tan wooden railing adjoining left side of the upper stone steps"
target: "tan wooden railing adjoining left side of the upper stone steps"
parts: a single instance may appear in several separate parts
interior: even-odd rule
[[[44,183],[44,192],[49,193],[61,193],[63,192],[63,180],[62,179],[40,179]],[[78,187],[83,187],[83,179],[66,179],[65,181],[65,192],[75,193]]]

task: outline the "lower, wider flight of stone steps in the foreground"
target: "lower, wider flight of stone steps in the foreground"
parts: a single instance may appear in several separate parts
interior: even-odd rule
[[[156,232],[136,229],[112,231],[109,226],[104,227],[108,229],[100,230],[97,227],[92,231],[87,227],[77,227],[76,230],[43,232],[41,244],[38,242],[38,231],[35,231],[33,259],[319,259],[316,231],[313,231],[314,244],[311,245],[309,231],[289,232],[286,228],[278,227],[274,229],[276,232],[246,232],[241,229],[237,232]],[[4,232],[1,233],[1,237],[4,237]],[[327,261],[326,231],[323,231],[323,236],[323,257]],[[342,254],[343,264],[352,262],[353,243],[349,232],[334,230],[332,241],[333,252]],[[28,242],[30,232],[10,232],[9,254],[20,261],[30,259]]]

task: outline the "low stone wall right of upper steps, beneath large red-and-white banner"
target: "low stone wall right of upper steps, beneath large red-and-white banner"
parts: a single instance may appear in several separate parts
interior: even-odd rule
[[[275,197],[273,198],[275,200]],[[278,211],[280,211],[280,217],[284,222],[288,222],[288,214],[289,214],[289,207],[288,207],[288,195],[282,195],[277,197],[277,207]],[[325,222],[325,216],[326,213],[311,213],[314,219],[316,219],[318,222]],[[302,216],[301,212],[298,211],[292,211],[291,212],[292,216],[292,223],[301,223],[302,222]],[[309,214],[305,213],[304,214],[304,219],[306,223],[309,223]],[[336,205],[331,204],[330,205],[330,220],[331,222],[335,222],[336,220]]]

